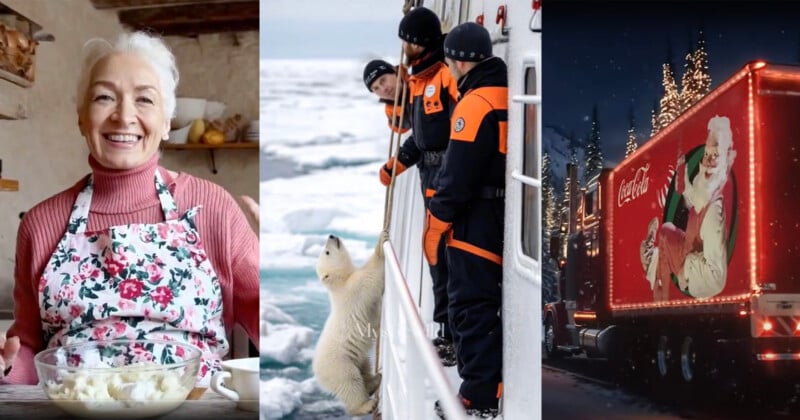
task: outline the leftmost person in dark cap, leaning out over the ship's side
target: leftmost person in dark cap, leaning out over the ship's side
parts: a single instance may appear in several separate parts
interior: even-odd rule
[[[395,103],[395,96],[397,94],[397,70],[396,66],[389,64],[384,60],[372,60],[364,66],[364,84],[370,92],[378,97],[378,101],[386,105],[386,118],[389,128],[395,132],[405,134],[411,129],[411,122],[409,121],[408,113],[403,112],[403,124],[400,121],[400,106]],[[403,92],[403,84],[405,82],[400,80],[400,92]],[[398,97],[398,100],[401,99]],[[402,101],[401,101],[402,102]],[[394,123],[392,123],[394,118]]]

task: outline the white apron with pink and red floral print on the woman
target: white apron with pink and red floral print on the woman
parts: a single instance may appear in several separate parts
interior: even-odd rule
[[[200,206],[178,216],[158,171],[155,188],[165,222],[86,232],[89,175],[39,280],[45,342],[48,347],[123,338],[188,343],[203,352],[197,386],[207,387],[229,344],[220,284],[194,221]]]

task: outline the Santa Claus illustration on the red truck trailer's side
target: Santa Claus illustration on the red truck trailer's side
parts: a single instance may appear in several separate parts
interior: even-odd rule
[[[728,259],[722,193],[735,158],[730,120],[720,116],[708,122],[705,150],[694,179],[689,177],[685,156],[678,158],[675,189],[688,207],[686,228],[671,222],[659,228],[654,218],[639,249],[655,301],[669,299],[672,275],[682,292],[698,299],[715,296],[725,287]]]

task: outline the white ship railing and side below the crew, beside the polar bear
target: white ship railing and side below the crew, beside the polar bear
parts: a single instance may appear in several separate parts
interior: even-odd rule
[[[386,288],[377,351],[383,374],[380,415],[383,420],[436,418],[438,401],[448,420],[466,420],[420,316],[421,310],[432,311],[432,291],[427,290],[430,279],[420,249],[424,207],[415,169],[395,180],[390,241],[383,245]]]

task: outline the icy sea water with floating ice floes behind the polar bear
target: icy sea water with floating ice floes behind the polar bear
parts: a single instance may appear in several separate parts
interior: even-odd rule
[[[261,418],[349,418],[313,378],[330,304],[317,257],[334,234],[360,266],[383,228],[389,154],[364,60],[262,60]]]

